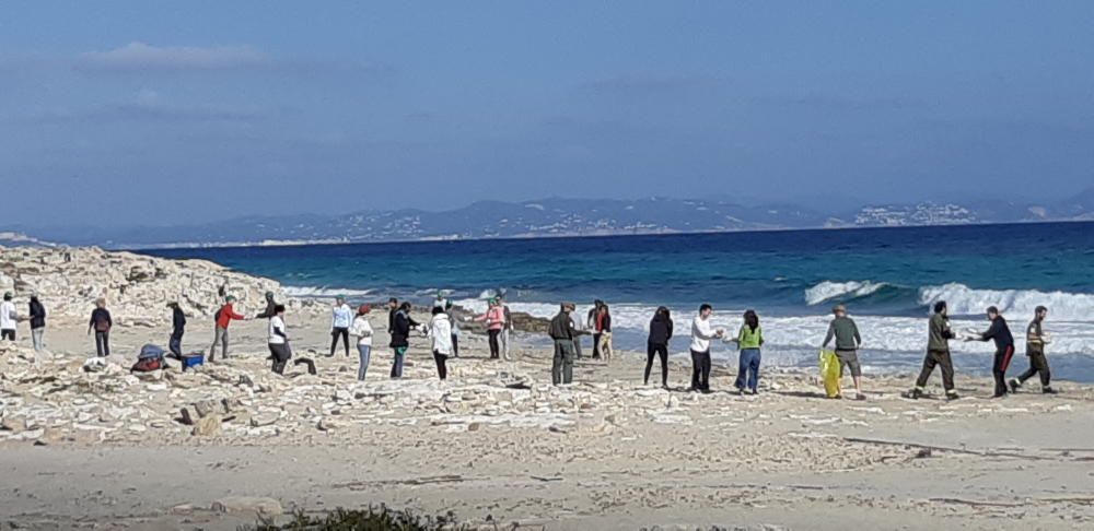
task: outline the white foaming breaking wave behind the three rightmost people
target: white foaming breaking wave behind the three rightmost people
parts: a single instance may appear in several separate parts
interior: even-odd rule
[[[1011,320],[1033,318],[1037,306],[1048,308],[1049,320],[1094,321],[1094,295],[1039,292],[1036,290],[974,290],[964,284],[927,286],[919,290],[919,304],[945,300],[950,315],[980,315],[994,306]]]

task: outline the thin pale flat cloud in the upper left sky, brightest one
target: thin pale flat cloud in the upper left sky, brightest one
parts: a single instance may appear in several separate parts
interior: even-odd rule
[[[251,46],[158,47],[129,43],[109,51],[80,55],[77,68],[88,71],[189,71],[267,68],[272,58]]]

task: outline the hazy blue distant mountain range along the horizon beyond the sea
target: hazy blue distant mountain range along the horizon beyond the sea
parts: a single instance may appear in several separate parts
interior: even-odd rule
[[[649,198],[480,201],[445,212],[365,211],[345,215],[242,217],[231,222],[127,229],[49,228],[0,233],[3,245],[98,245],[108,248],[338,244],[400,240],[671,234],[1094,221],[1094,188],[1054,203],[979,201],[872,204],[821,212],[795,204],[749,206],[720,200]]]

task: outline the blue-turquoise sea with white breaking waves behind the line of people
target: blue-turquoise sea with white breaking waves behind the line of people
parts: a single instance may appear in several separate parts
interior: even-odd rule
[[[514,309],[550,315],[560,300],[602,298],[614,307],[625,346],[640,346],[652,309],[677,319],[709,302],[726,328],[744,308],[765,319],[768,351],[812,364],[827,309],[847,303],[872,332],[880,365],[919,363],[927,308],[950,303],[967,328],[988,305],[1021,337],[1038,304],[1050,308],[1063,364],[1094,379],[1094,223],[862,228],[146,251],[203,258],[293,286],[298,294],[346,293],[426,302],[438,290],[475,305],[508,290]],[[686,349],[682,342],[679,350]],[[990,354],[979,343],[962,363]],[[768,354],[765,353],[765,356]],[[1059,357],[1059,356],[1058,356]],[[1021,362],[1019,362],[1021,365]],[[1087,367],[1089,366],[1089,367]]]

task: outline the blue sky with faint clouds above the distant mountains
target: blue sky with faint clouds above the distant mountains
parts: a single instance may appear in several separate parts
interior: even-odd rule
[[[1094,186],[1094,2],[0,4],[0,228]]]

